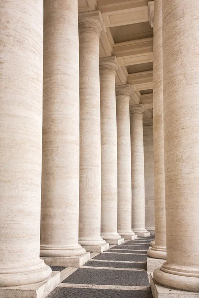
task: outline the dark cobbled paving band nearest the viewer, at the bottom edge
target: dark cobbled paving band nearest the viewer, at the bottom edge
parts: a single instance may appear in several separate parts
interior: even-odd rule
[[[153,298],[151,291],[57,287],[46,298]]]

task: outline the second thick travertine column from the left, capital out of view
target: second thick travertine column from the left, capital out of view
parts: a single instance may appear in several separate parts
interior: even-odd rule
[[[77,0],[65,0],[59,6],[57,0],[44,0],[43,83],[40,254],[50,265],[69,266],[71,259],[67,260],[66,257],[81,256],[85,253],[85,249],[78,244]]]

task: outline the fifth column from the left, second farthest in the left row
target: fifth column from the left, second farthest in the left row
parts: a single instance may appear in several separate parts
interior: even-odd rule
[[[131,230],[131,153],[130,153],[130,85],[116,87],[117,108],[117,167],[118,167],[118,233],[125,240],[137,235]]]

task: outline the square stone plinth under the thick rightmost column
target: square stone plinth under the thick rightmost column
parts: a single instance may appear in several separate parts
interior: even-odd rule
[[[181,290],[175,290],[172,288],[166,288],[159,285],[153,278],[151,273],[151,291],[153,298],[199,298],[199,293],[197,292],[187,292]]]

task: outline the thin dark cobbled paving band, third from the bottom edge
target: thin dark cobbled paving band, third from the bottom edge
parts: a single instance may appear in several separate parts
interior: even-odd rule
[[[112,268],[136,268],[136,269],[145,269],[147,263],[117,263],[117,262],[94,262],[88,261],[84,266],[91,267],[112,267]]]

